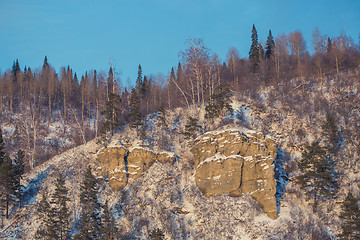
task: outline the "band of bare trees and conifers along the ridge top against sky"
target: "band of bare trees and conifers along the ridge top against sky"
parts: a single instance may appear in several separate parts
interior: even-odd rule
[[[359,46],[345,33],[330,38],[316,28],[311,40],[313,54],[307,51],[300,31],[274,37],[269,30],[263,44],[253,25],[250,37],[248,56],[241,58],[232,48],[222,63],[203,40],[189,39],[177,67],[167,76],[144,76],[139,65],[133,87],[122,86],[113,67],[80,77],[70,66],[56,73],[47,57],[35,71],[30,67],[22,70],[16,60],[0,75],[2,117],[11,122],[8,113],[23,115],[16,122],[17,145],[24,150],[26,166],[33,168],[39,163],[41,127],[49,127],[55,115],[60,115],[64,125],[72,122],[78,127],[80,144],[104,133],[113,134],[127,123],[140,131],[146,124],[144,117],[160,108],[207,106],[211,118],[225,110],[223,96],[256,97],[261,87],[286,85],[293,78],[313,77],[322,86],[327,75],[355,68],[360,61]],[[305,83],[298,87],[305,92]]]

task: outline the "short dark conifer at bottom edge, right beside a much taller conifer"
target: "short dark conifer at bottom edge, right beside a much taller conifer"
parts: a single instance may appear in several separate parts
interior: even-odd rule
[[[101,236],[103,239],[117,239],[119,230],[116,227],[115,218],[111,215],[108,202],[103,205],[103,214],[101,216]]]

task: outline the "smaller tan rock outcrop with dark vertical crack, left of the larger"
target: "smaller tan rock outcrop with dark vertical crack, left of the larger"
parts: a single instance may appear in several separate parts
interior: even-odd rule
[[[129,178],[139,178],[155,161],[172,163],[174,158],[173,154],[155,153],[146,148],[129,151],[119,142],[112,142],[108,147],[99,150],[99,166],[95,174],[99,181],[108,180],[110,187],[119,191],[127,185]]]

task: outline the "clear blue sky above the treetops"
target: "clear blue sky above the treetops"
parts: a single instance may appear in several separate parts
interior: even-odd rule
[[[144,74],[168,74],[188,38],[202,38],[221,60],[231,47],[246,57],[252,24],[259,40],[300,30],[311,48],[311,33],[355,43],[360,34],[358,0],[0,0],[0,71],[19,59],[36,69],[44,56],[59,71],[78,75],[115,66],[124,83]]]

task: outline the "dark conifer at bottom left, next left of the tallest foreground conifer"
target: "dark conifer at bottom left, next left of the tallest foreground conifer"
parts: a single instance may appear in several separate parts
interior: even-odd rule
[[[69,237],[70,211],[67,207],[68,188],[65,186],[65,177],[61,173],[56,179],[55,192],[52,194],[51,205],[54,212],[52,228],[56,232],[56,239],[67,239]]]

